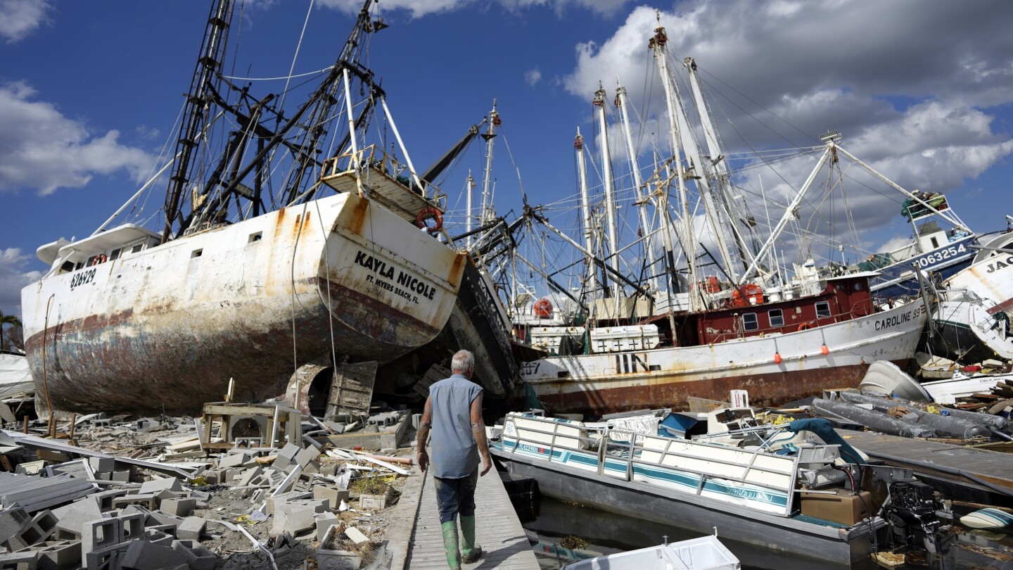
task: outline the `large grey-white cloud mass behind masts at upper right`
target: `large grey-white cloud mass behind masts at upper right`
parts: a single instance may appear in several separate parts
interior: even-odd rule
[[[632,103],[647,110],[641,121],[667,129],[647,49],[656,14],[634,8],[611,37],[576,46],[565,89],[590,100],[599,81],[618,76]],[[1013,153],[992,110],[1013,102],[1013,38],[1000,31],[1013,25],[1013,11],[995,3],[704,0],[659,15],[670,70],[685,77],[684,58],[695,58],[725,152],[815,146],[820,134],[839,130],[845,148],[901,186],[936,192]],[[680,88],[691,98],[685,79]],[[762,215],[761,169],[751,165],[738,180]],[[766,197],[786,204],[812,165],[806,156],[766,169]],[[816,189],[800,208],[799,231],[861,234],[900,219],[899,194],[884,198],[892,191],[882,185],[868,192],[872,179],[856,167],[846,176],[847,201],[837,196],[826,203],[834,217],[812,217],[822,200]],[[768,207],[775,220],[783,211]]]

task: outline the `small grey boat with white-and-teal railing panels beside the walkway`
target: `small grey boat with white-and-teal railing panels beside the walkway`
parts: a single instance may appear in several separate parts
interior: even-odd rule
[[[682,439],[511,413],[490,450],[512,477],[535,479],[564,501],[702,533],[717,526],[722,539],[832,564],[871,552],[872,533],[886,523],[870,514],[868,492],[852,492],[864,458],[830,435],[827,420],[762,425],[752,409],[709,417],[706,436]]]

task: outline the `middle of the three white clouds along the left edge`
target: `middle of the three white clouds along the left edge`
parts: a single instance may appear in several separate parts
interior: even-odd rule
[[[32,100],[35,94],[23,82],[0,85],[0,192],[31,188],[46,196],[95,174],[126,169],[141,182],[150,172],[154,157],[120,144],[119,131],[92,134],[54,104]]]

